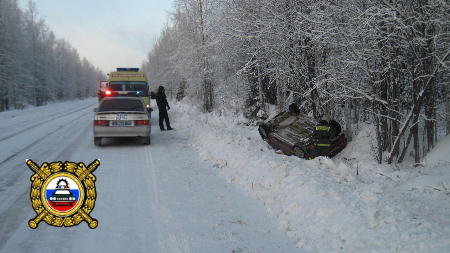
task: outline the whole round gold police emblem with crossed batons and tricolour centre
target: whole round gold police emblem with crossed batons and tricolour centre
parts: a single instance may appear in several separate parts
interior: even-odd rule
[[[83,163],[43,163],[40,167],[27,160],[28,167],[35,173],[31,176],[31,203],[37,213],[28,222],[37,228],[39,222],[56,227],[70,227],[86,221],[90,228],[96,228],[98,221],[90,216],[97,197],[95,176],[92,174],[100,165],[99,160],[87,167]]]

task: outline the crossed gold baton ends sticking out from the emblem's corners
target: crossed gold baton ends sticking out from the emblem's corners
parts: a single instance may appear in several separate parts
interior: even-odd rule
[[[27,159],[27,165],[32,171],[35,172],[34,175],[38,175],[41,178],[42,181],[44,181],[50,174],[52,174],[52,172],[48,168],[48,164],[47,163],[44,163],[44,164],[42,164],[41,167],[39,167],[31,159]],[[100,165],[100,160],[96,159],[94,162],[89,164],[89,166],[85,170],[83,170],[81,173],[76,173],[76,174],[80,174],[80,175],[78,175],[78,179],[80,181],[83,181],[88,175],[90,175],[94,170],[96,170],[99,165]],[[39,215],[36,216],[36,218],[31,219],[28,222],[30,227],[31,228],[37,228],[39,222],[41,222],[48,214],[49,214],[49,212],[47,210],[45,210],[45,208],[44,208],[44,210],[41,213],[39,213]],[[76,214],[79,214],[89,224],[90,228],[93,229],[93,228],[97,227],[98,221],[96,219],[93,219],[83,209],[80,208],[76,212]]]

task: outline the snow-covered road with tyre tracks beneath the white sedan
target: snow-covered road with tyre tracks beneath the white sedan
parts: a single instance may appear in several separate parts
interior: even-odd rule
[[[0,252],[299,252],[263,204],[201,161],[182,131],[159,131],[157,113],[151,145],[109,139],[95,147],[96,106],[87,99],[0,114]],[[98,227],[41,221],[31,229],[26,159],[100,159]]]

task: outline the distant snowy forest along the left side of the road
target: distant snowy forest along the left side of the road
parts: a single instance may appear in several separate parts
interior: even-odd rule
[[[58,39],[29,1],[0,0],[0,111],[96,95],[105,74]]]

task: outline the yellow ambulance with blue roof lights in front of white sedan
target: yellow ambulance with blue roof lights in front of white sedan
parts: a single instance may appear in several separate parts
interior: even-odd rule
[[[147,111],[153,111],[150,105],[150,93],[147,75],[139,72],[139,68],[117,68],[109,73],[104,91],[105,97],[127,96],[141,97],[147,106]]]

